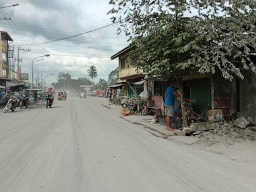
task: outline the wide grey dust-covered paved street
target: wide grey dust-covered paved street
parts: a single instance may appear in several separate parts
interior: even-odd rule
[[[0,122],[3,192],[256,191],[255,167],[155,137],[105,99],[0,113]]]

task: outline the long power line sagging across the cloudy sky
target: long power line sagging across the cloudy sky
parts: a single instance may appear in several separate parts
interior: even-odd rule
[[[41,43],[29,43],[29,44],[14,45],[14,46],[35,46],[35,45],[49,44],[49,43],[53,43],[53,42],[56,42],[56,41],[63,41],[63,40],[67,40],[67,39],[72,39],[72,38],[74,38],[74,37],[79,37],[79,36],[81,36],[81,35],[85,35],[85,34],[87,34],[87,33],[92,33],[92,32],[94,32],[94,31],[98,31],[98,30],[100,30],[100,29],[104,29],[104,28],[107,28],[107,27],[110,27],[110,26],[113,26],[113,25],[117,25],[117,24],[119,24],[119,23],[111,23],[111,24],[105,25],[105,26],[103,26],[103,27],[99,27],[99,28],[97,28],[97,29],[93,29],[93,30],[91,30],[91,31],[86,31],[86,32],[84,32],[84,33],[79,33],[79,34],[77,34],[77,35],[71,35],[71,36],[69,36],[69,37],[63,37],[63,38],[60,38],[60,39],[53,39],[53,40],[50,40],[50,41],[43,41],[43,42],[41,42]]]

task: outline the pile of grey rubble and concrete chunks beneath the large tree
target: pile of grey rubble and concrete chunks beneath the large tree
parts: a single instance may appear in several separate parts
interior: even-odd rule
[[[239,118],[231,123],[194,123],[184,127],[182,131],[175,130],[175,135],[194,136],[207,144],[251,140],[256,141],[256,127],[245,118]]]

